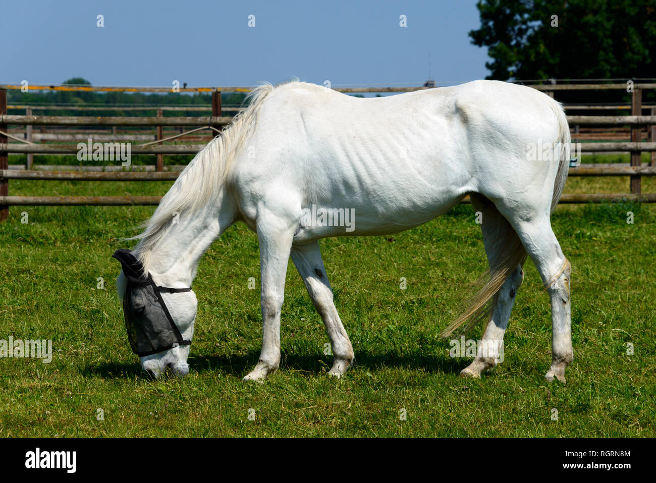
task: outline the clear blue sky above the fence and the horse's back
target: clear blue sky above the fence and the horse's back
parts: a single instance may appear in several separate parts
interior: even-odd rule
[[[94,85],[177,79],[198,87],[296,76],[333,87],[419,84],[429,58],[438,83],[465,82],[488,74],[486,50],[467,35],[479,25],[470,0],[8,1],[0,83],[85,77]]]

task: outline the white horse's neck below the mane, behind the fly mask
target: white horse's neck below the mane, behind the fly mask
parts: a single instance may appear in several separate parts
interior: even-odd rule
[[[176,215],[176,221],[156,243],[150,245],[144,239],[135,247],[156,284],[176,288],[192,285],[203,253],[234,222],[234,205],[224,193],[222,190],[216,203],[199,212]]]

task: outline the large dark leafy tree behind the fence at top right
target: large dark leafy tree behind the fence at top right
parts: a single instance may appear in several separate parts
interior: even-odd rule
[[[480,0],[488,79],[656,77],[656,0]]]

